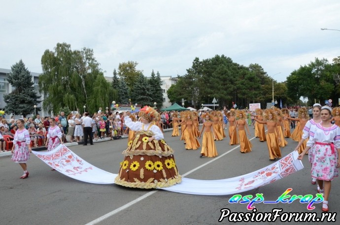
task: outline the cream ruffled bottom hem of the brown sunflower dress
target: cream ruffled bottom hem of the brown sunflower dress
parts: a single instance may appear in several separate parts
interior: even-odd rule
[[[182,177],[181,175],[178,175],[178,176],[175,176],[174,178],[169,178],[168,180],[160,179],[160,181],[157,183],[154,183],[155,182],[154,178],[150,178],[147,182],[140,182],[137,179],[135,180],[136,182],[128,182],[128,181],[125,181],[125,178],[121,180],[119,176],[117,176],[114,179],[114,183],[117,185],[128,187],[128,188],[142,188],[142,189],[168,188],[175,184],[181,183]]]

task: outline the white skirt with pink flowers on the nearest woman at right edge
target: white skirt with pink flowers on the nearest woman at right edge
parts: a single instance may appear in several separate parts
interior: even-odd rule
[[[339,176],[337,168],[338,151],[335,149],[332,153],[330,145],[313,146],[313,151],[309,151],[311,156],[311,176],[318,180],[332,181],[334,177]]]

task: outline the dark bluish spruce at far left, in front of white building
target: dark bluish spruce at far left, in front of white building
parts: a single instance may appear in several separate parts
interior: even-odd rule
[[[8,74],[7,80],[14,90],[3,96],[6,102],[5,111],[25,117],[27,114],[34,112],[33,106],[40,102],[38,100],[40,96],[34,91],[32,75],[28,68],[25,68],[22,60],[12,65],[11,69],[12,71]],[[39,108],[36,108],[36,110],[39,110]]]

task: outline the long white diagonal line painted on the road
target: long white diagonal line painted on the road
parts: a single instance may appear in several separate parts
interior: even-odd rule
[[[249,140],[251,141],[251,140],[254,139],[254,138],[255,138],[255,137],[253,137],[253,138],[251,138],[251,139],[249,139]],[[202,165],[200,165],[200,166],[198,166],[198,167],[196,167],[196,168],[190,170],[189,172],[184,173],[184,174],[182,175],[182,177],[185,177],[185,176],[189,175],[190,173],[195,172],[196,170],[202,168],[203,166],[205,166],[205,165],[207,165],[207,164],[209,164],[209,163],[211,163],[211,162],[213,162],[213,161],[216,161],[216,160],[220,159],[221,157],[227,155],[228,153],[231,153],[232,151],[234,151],[234,150],[237,149],[238,147],[239,147],[239,145],[236,146],[235,148],[229,150],[228,152],[225,152],[225,153],[223,153],[222,155],[220,155],[220,156],[214,158],[213,160],[207,161],[207,162],[205,162],[204,164],[202,164]],[[151,196],[152,194],[154,194],[154,193],[156,193],[156,192],[158,192],[158,190],[154,190],[154,191],[151,191],[151,192],[149,192],[149,193],[146,193],[146,194],[144,194],[144,195],[142,195],[142,196],[136,198],[135,200],[133,200],[133,201],[131,201],[131,202],[129,202],[129,203],[127,203],[127,204],[125,204],[125,205],[123,205],[123,206],[121,206],[121,207],[119,207],[119,208],[117,208],[117,209],[115,209],[115,210],[113,210],[113,211],[111,211],[111,212],[109,212],[109,213],[106,213],[105,215],[103,215],[103,216],[97,218],[96,220],[91,221],[90,223],[88,223],[88,224],[86,224],[86,225],[95,225],[95,224],[98,224],[98,223],[102,222],[103,220],[106,220],[107,218],[109,218],[109,217],[111,217],[111,216],[113,216],[113,215],[115,215],[115,214],[117,214],[117,213],[123,211],[124,209],[129,208],[130,206],[136,204],[137,202],[143,200],[144,198],[146,198],[146,197],[148,197],[148,196]]]

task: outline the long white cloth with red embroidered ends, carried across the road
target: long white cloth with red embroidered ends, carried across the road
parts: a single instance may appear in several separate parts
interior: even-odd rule
[[[47,165],[79,181],[93,184],[114,184],[114,178],[117,176],[117,174],[109,173],[84,161],[65,145],[59,145],[50,152],[32,152]],[[294,151],[265,168],[242,176],[222,180],[182,178],[180,184],[162,189],[171,192],[201,195],[241,193],[270,184],[303,169],[302,162],[297,158],[298,152]]]

